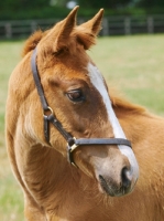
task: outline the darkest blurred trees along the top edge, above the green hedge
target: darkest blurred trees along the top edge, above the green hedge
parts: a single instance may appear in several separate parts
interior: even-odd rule
[[[75,2],[81,8],[124,8],[127,6],[139,6],[144,8],[164,7],[164,0],[1,0],[0,10],[44,8],[48,6],[66,7],[68,2]]]

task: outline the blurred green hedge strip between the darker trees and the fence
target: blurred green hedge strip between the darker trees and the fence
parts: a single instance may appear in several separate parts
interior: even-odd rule
[[[57,7],[44,7],[35,9],[0,9],[0,20],[22,20],[22,19],[52,19],[64,18],[70,10]],[[92,17],[98,9],[83,9],[78,11],[78,17]],[[134,15],[134,14],[157,14],[164,13],[164,8],[141,9],[141,8],[127,8],[117,10],[105,10],[105,15]]]

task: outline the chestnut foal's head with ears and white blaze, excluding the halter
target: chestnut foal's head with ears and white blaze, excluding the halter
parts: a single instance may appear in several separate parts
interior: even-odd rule
[[[37,48],[37,70],[48,105],[63,127],[76,138],[125,138],[112,110],[106,82],[86,50],[95,44],[103,10],[88,22],[76,25],[76,7],[68,17],[51,30],[32,35],[24,55]],[[52,146],[66,160],[66,141],[50,126],[50,144],[42,125],[42,108],[34,87],[31,106],[33,139]],[[31,133],[32,134],[32,133]],[[96,145],[77,147],[74,161],[83,172],[97,180],[100,191],[110,196],[130,192],[139,176],[130,147]]]

